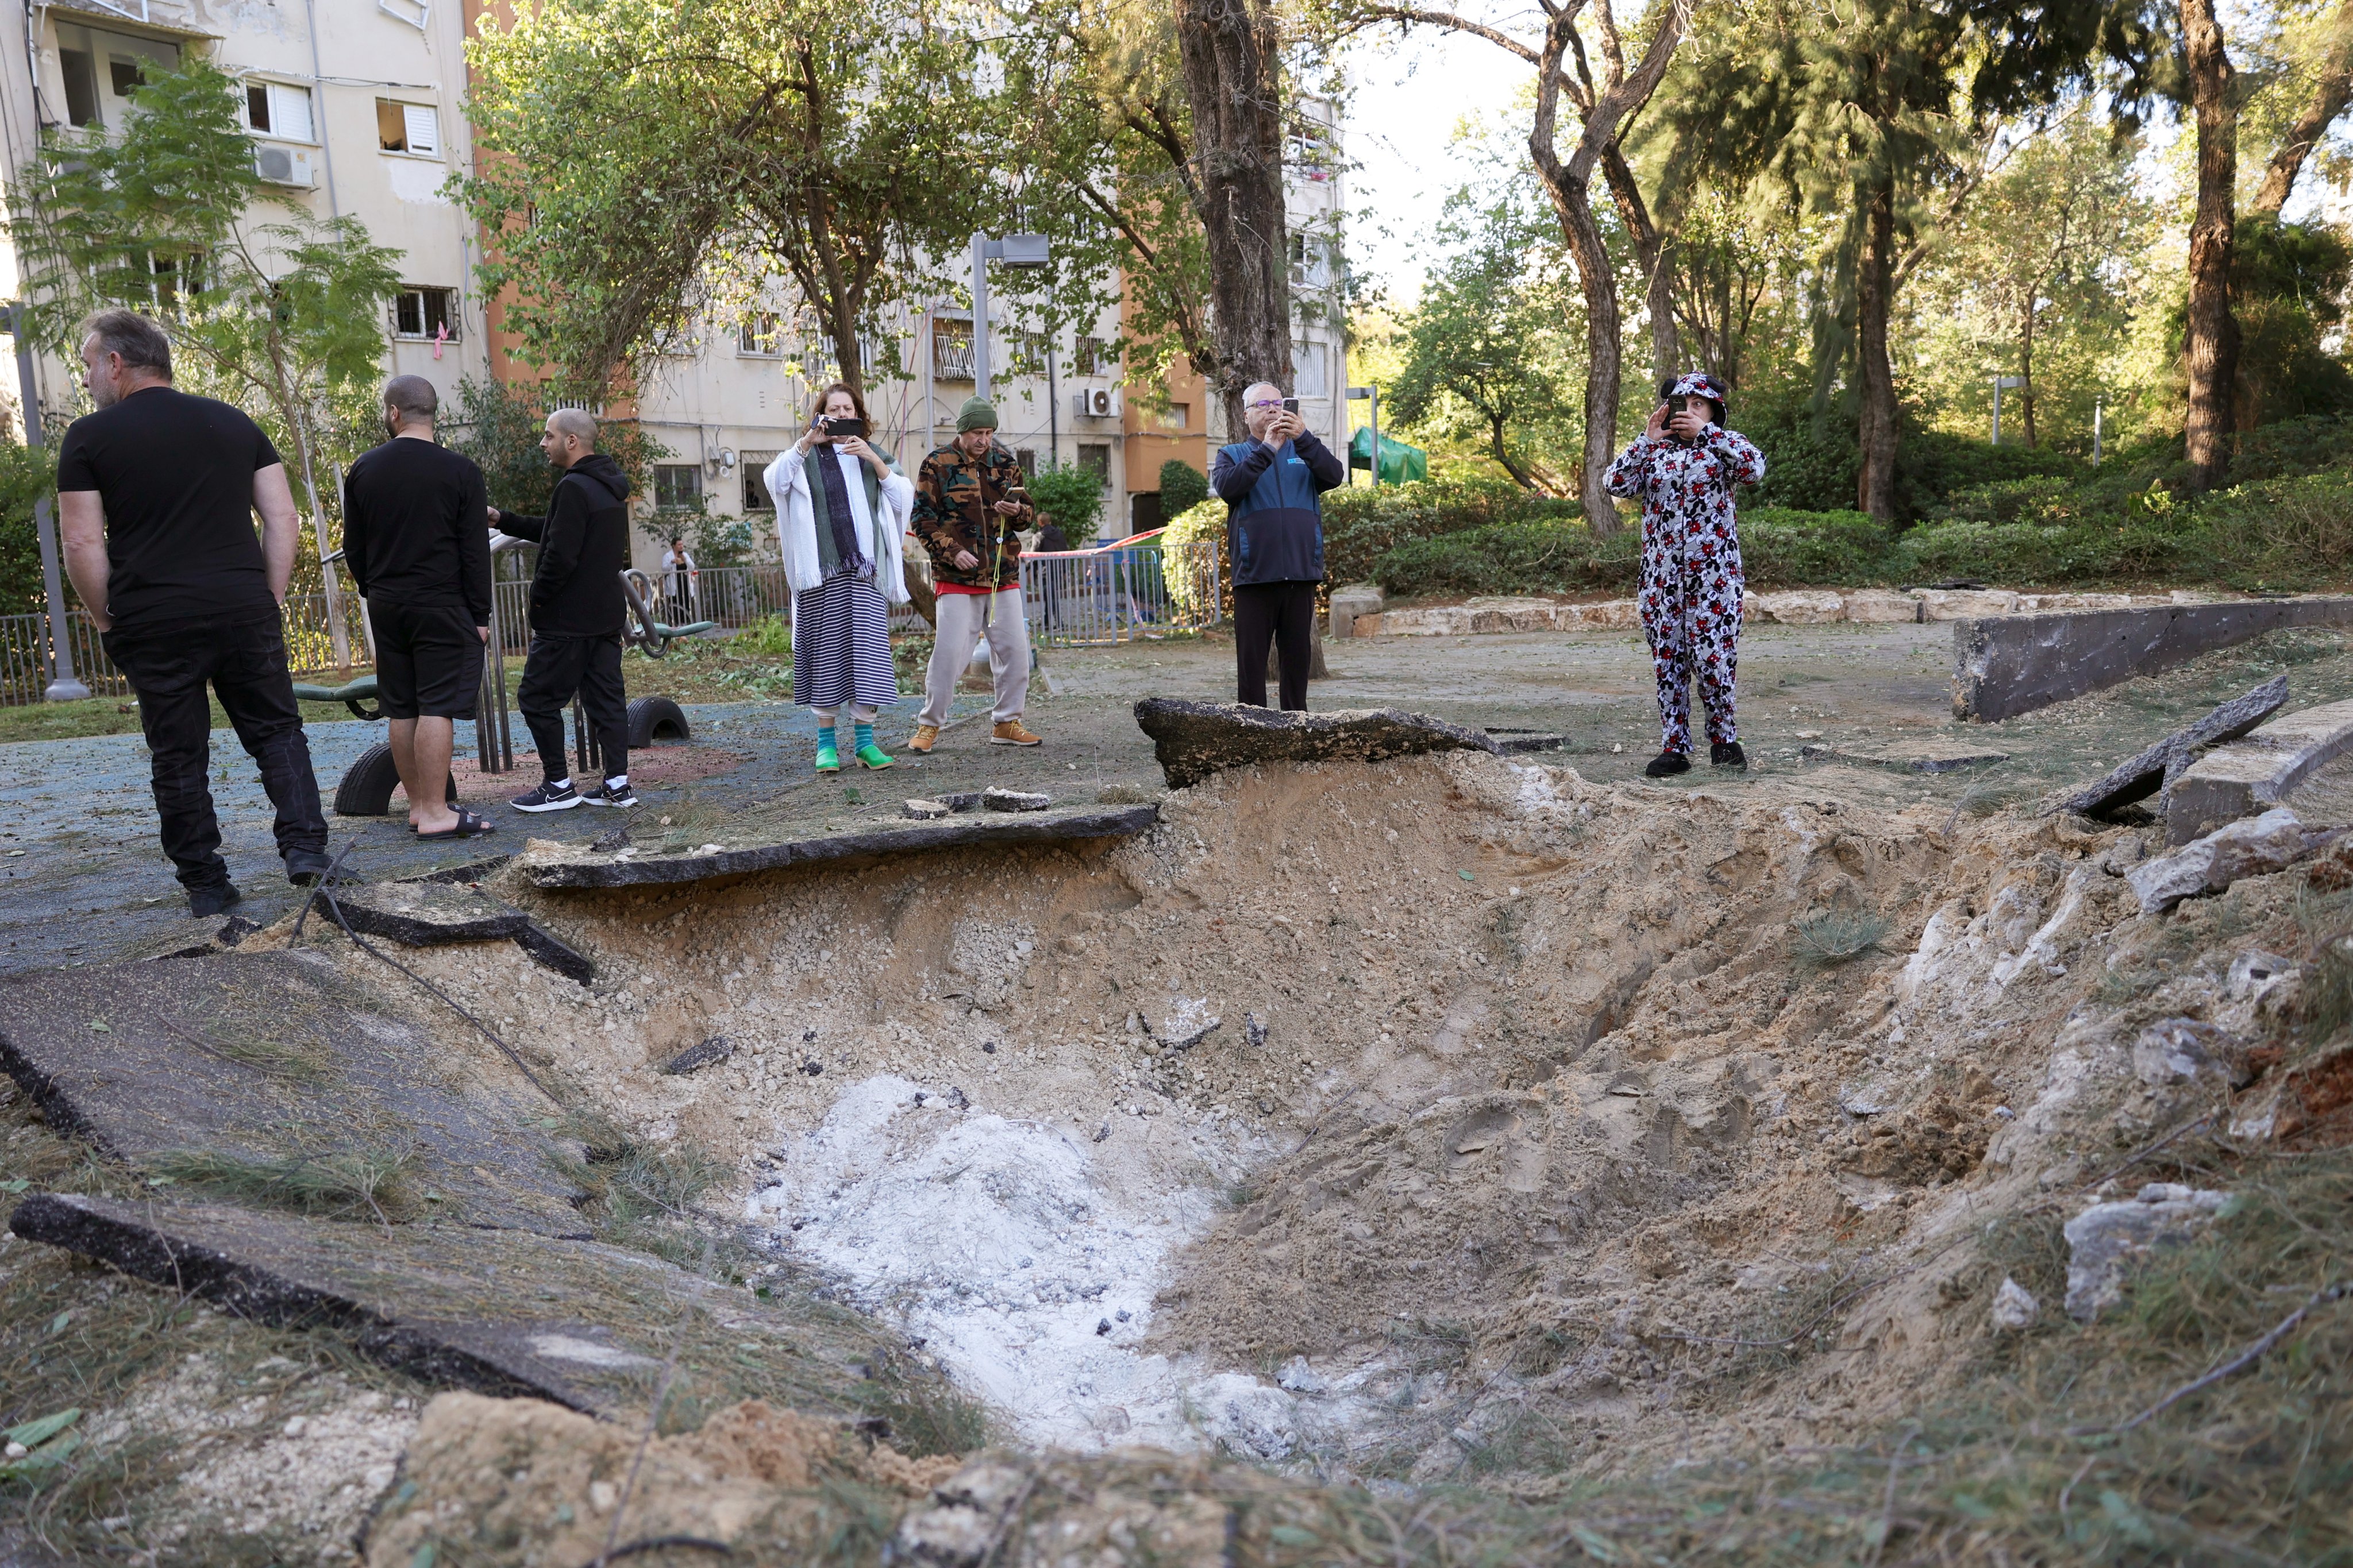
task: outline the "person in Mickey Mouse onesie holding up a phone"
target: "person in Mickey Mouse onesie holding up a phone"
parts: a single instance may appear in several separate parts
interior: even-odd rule
[[[1765,454],[1725,428],[1725,383],[1706,371],[1661,393],[1649,428],[1609,465],[1609,494],[1642,501],[1642,637],[1659,677],[1649,778],[1692,769],[1692,679],[1708,708],[1708,762],[1748,766],[1734,724],[1741,656],[1741,527],[1732,487],[1765,477]]]

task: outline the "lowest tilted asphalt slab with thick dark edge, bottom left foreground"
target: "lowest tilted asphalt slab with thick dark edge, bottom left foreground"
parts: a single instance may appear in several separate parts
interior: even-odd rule
[[[847,1406],[856,1378],[842,1354],[856,1347],[824,1345],[824,1328],[598,1241],[52,1192],[9,1229],[259,1324],[348,1333],[428,1382],[612,1420],[642,1420],[673,1352],[673,1396],[701,1382],[706,1406],[748,1392],[732,1380],[746,1359],[805,1361],[793,1375],[816,1408]]]

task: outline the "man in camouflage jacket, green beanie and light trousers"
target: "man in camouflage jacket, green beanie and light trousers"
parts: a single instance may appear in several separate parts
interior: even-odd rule
[[[1019,538],[1019,529],[1035,517],[1021,465],[998,447],[995,407],[984,397],[967,400],[955,416],[955,440],[927,456],[915,477],[911,527],[932,557],[939,602],[922,715],[908,750],[927,752],[939,743],[955,679],[981,637],[988,637],[988,672],[995,679],[991,745],[1038,745],[1038,736],[1021,724],[1028,625],[1021,614]]]

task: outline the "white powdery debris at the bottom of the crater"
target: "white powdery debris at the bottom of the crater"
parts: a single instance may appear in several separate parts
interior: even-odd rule
[[[1292,1394],[1139,1349],[1167,1258],[1209,1222],[1209,1194],[1132,1213],[1094,1159],[1082,1135],[871,1077],[795,1140],[748,1218],[896,1314],[1031,1443],[1292,1453]]]

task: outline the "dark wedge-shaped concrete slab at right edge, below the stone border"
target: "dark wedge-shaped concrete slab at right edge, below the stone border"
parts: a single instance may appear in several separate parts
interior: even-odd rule
[[[2353,599],[2235,599],[1960,621],[1953,628],[1953,717],[2009,719],[2287,625],[2353,625]]]

